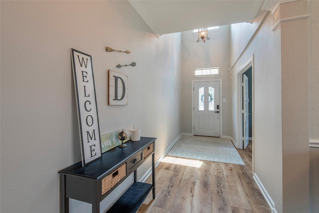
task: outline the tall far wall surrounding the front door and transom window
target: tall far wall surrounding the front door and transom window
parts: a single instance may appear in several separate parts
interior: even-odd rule
[[[202,79],[222,79],[222,98],[227,102],[222,103],[223,114],[223,136],[230,136],[230,110],[231,110],[231,80],[228,71],[229,58],[229,25],[219,26],[218,31],[208,32],[209,40],[198,43],[197,33],[185,31],[181,33],[182,44],[182,132],[191,133],[191,81]],[[193,77],[194,69],[219,67],[220,76],[218,77]]]

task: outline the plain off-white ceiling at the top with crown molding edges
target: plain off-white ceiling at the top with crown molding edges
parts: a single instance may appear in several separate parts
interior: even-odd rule
[[[279,0],[129,0],[153,32],[182,32],[210,26],[252,22]]]

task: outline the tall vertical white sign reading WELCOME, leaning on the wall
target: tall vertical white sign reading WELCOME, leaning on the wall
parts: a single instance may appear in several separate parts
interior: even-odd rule
[[[81,138],[82,166],[102,156],[91,55],[71,49]]]

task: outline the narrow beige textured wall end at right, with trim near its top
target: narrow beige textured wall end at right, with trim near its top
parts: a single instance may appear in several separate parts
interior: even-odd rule
[[[307,1],[283,3],[281,19],[308,13]],[[283,211],[309,212],[308,21],[281,23]]]

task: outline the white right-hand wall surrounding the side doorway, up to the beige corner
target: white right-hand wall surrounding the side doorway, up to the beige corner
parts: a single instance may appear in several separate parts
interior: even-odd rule
[[[253,152],[254,172],[275,201],[278,212],[282,210],[282,134],[281,134],[281,59],[280,31],[271,31],[273,19],[266,15],[262,26],[252,37],[242,55],[236,59],[232,77],[232,137],[239,140],[237,132],[238,106],[238,75],[241,68],[253,58]],[[237,36],[231,40],[232,53],[237,52],[237,43],[251,30],[246,23],[232,24],[231,30],[237,31]],[[232,35],[234,35],[232,31]],[[234,54],[232,54],[234,55]],[[237,62],[236,62],[237,61]]]

